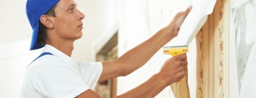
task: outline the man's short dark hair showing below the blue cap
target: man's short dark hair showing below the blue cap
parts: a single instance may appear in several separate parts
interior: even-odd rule
[[[52,17],[56,17],[55,15],[55,8],[56,8],[57,4],[54,5],[45,15],[48,16],[52,16]],[[38,35],[37,35],[37,43],[41,46],[45,45],[45,39],[47,38],[47,32],[46,32],[47,27],[45,25],[43,25],[40,21],[39,21],[39,29],[38,29]]]

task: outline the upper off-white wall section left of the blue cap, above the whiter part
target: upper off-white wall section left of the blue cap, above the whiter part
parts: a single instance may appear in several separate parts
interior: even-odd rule
[[[32,36],[32,28],[25,13],[26,1],[0,1],[0,44],[28,39]]]

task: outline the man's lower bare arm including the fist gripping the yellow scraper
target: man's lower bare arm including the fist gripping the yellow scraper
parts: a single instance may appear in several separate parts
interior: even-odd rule
[[[166,86],[176,82],[186,75],[185,66],[188,65],[186,54],[180,54],[168,59],[163,64],[159,73],[156,73],[138,87],[115,98],[154,98]],[[87,90],[77,98],[101,98],[92,90]]]

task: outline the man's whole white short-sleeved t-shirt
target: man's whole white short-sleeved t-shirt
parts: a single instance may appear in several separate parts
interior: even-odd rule
[[[75,98],[94,89],[102,64],[77,61],[50,45],[44,55],[26,69],[21,98]]]

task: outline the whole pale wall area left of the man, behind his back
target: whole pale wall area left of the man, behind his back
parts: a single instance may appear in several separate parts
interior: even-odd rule
[[[0,1],[0,98],[19,98],[26,67],[39,55],[30,51],[32,28],[26,0]]]

